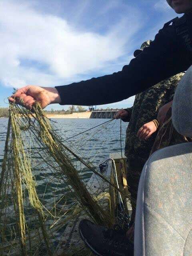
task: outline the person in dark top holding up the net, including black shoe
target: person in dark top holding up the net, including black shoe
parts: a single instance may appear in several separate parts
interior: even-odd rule
[[[28,85],[10,96],[10,102],[22,104],[28,109],[35,101],[42,108],[54,103],[81,106],[108,104],[144,92],[158,82],[184,72],[192,65],[192,1],[167,2],[176,13],[184,15],[164,24],[150,46],[144,48],[122,71],[52,88]],[[126,234],[117,230],[108,230],[90,220],[82,220],[79,231],[86,245],[96,255],[134,254]]]

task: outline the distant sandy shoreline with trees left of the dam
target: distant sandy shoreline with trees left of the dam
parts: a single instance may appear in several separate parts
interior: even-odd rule
[[[53,108],[51,110],[45,110],[46,114],[70,114],[73,112],[85,112],[87,111],[84,109],[83,106],[69,106],[68,110],[54,110]],[[9,116],[9,108],[0,108],[0,117],[8,117]]]

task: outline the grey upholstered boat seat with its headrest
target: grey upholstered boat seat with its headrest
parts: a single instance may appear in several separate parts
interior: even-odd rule
[[[192,136],[192,67],[174,96],[176,130]],[[138,188],[135,256],[192,256],[192,142],[156,151]]]

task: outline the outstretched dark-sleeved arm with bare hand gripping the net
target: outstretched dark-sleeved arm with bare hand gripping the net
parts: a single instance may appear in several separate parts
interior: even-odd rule
[[[27,96],[31,96],[33,100],[39,100],[37,94],[42,93],[42,89],[48,96],[45,101],[40,97],[42,107],[55,102],[62,105],[98,105],[118,102],[186,70],[190,64],[190,54],[176,35],[174,26],[168,26],[160,30],[150,46],[145,48],[129,65],[124,66],[122,71],[66,86],[56,86],[58,94],[54,88],[27,86],[29,88],[27,93],[18,90],[15,94],[16,102],[19,103],[20,98],[28,102],[25,99]],[[14,96],[10,100],[12,101],[13,98]],[[28,108],[31,105],[32,102],[28,104]]]

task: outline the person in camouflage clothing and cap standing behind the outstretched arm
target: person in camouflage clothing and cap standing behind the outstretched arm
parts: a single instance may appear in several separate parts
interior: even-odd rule
[[[144,42],[140,50],[134,52],[134,56],[137,57],[144,48],[150,46],[151,42],[151,40]],[[132,242],[134,240],[138,184],[143,166],[148,160],[157,135],[159,127],[158,111],[164,104],[172,100],[183,75],[184,73],[176,74],[144,92],[136,94],[133,106],[118,111],[114,116],[116,119],[121,118],[124,122],[129,122],[126,130],[125,156],[127,157],[127,182],[132,205],[130,229],[127,236]]]

